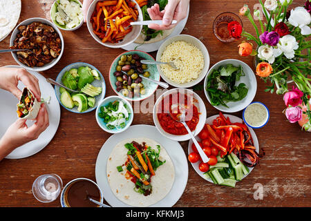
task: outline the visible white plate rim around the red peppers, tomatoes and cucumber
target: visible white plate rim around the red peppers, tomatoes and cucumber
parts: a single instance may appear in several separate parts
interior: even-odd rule
[[[242,123],[242,122],[243,122],[243,120],[242,120],[240,117],[236,117],[236,116],[234,116],[234,115],[226,115],[226,114],[224,114],[224,116],[225,116],[226,118],[229,117],[229,119],[230,119],[230,121],[231,121],[232,123],[236,123],[236,122]],[[214,116],[208,117],[208,118],[206,119],[205,124],[213,124],[213,120],[216,119],[216,117],[219,117],[219,115],[214,115]],[[247,128],[249,129],[249,132],[250,132],[251,135],[252,135],[252,139],[253,139],[253,142],[254,142],[254,146],[256,147],[256,152],[259,153],[259,144],[258,144],[258,139],[257,139],[257,137],[256,137],[256,133],[255,133],[254,130],[253,130],[252,128],[250,128],[249,126],[247,126]],[[198,140],[199,142],[201,141],[200,138],[199,138],[198,136],[196,136],[196,140]],[[193,151],[192,151],[192,148],[191,148],[192,143],[193,143],[192,140],[190,140],[190,141],[189,141],[189,144],[188,144],[188,155],[189,155],[189,153],[193,152]],[[198,173],[198,175],[200,175],[200,177],[202,177],[204,180],[207,180],[207,181],[209,181],[209,182],[211,182],[211,183],[214,183],[210,178],[207,178],[207,177],[203,174],[203,172],[200,171],[200,169],[198,168],[198,165],[199,165],[199,164],[200,164],[200,160],[199,160],[198,162],[194,163],[194,164],[191,163],[192,167],[194,167],[194,170],[196,171],[196,173]],[[247,166],[247,167],[248,167],[248,166]],[[249,169],[249,173],[251,173],[252,170],[254,169],[254,167],[248,167],[248,169]],[[249,173],[247,173],[247,175],[249,175]],[[247,177],[247,175],[244,175],[244,177],[243,177],[242,179],[244,179],[245,177]]]

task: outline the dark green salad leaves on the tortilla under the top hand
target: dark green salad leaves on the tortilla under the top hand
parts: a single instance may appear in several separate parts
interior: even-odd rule
[[[142,9],[142,18],[144,19],[144,21],[151,20],[149,14],[147,12],[147,8],[151,8],[151,6],[158,3],[158,5],[160,7],[160,11],[162,11],[162,10],[164,10],[165,6],[167,6],[167,2],[168,2],[168,0],[149,0],[147,5],[142,6],[142,8],[141,8]],[[148,28],[148,26],[142,26],[142,34],[144,34],[146,36],[144,41],[149,41],[150,39],[154,39],[158,35],[163,35],[163,31],[162,30],[154,30],[154,29]]]

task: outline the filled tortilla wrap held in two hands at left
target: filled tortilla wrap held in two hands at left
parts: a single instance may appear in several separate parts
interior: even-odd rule
[[[41,104],[31,90],[23,88],[19,104],[17,104],[17,116],[21,119],[36,119]]]

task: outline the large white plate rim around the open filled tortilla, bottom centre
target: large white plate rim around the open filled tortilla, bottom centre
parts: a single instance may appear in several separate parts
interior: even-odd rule
[[[134,125],[130,126],[129,129],[122,133],[116,133],[109,137],[108,140],[104,143],[102,148],[100,149],[100,153],[97,155],[96,166],[95,166],[95,176],[96,182],[102,189],[102,193],[104,194],[105,200],[111,206],[117,207],[127,207],[128,204],[120,201],[115,197],[111,188],[109,186],[109,182],[106,175],[106,163],[108,160],[111,151],[115,147],[115,145],[122,140],[133,138],[133,137],[146,137],[151,140],[155,140],[165,148],[169,157],[175,166],[175,180],[173,182],[173,186],[171,187],[171,191],[159,202],[151,205],[152,207],[169,207],[176,204],[176,202],[180,199],[182,193],[185,191],[185,187],[187,185],[188,180],[188,162],[185,152],[182,150],[180,144],[176,141],[169,140],[167,137],[161,135],[155,126],[151,125]]]

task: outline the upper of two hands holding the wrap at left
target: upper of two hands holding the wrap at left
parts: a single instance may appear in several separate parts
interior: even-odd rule
[[[31,75],[23,68],[0,68],[0,88],[10,91],[17,99],[21,97],[21,90],[17,88],[19,81],[23,82],[32,91],[38,102],[41,102],[41,92],[37,77]]]

